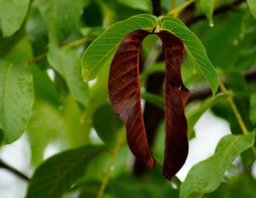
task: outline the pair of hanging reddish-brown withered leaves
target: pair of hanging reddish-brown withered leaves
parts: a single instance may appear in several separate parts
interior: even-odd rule
[[[108,90],[113,110],[127,128],[127,141],[135,157],[154,167],[148,146],[140,105],[139,55],[148,31],[129,33],[118,48],[110,66]],[[189,91],[181,79],[184,45],[177,36],[160,31],[165,52],[165,162],[163,175],[169,180],[184,165],[188,153],[187,120],[184,106]]]

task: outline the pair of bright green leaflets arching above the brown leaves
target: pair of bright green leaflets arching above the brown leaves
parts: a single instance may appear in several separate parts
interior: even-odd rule
[[[189,58],[197,66],[200,74],[206,78],[213,94],[215,94],[219,87],[217,70],[208,60],[206,50],[197,36],[175,17],[159,17],[158,22],[157,17],[152,15],[136,15],[112,25],[98,39],[94,40],[83,53],[83,80],[89,82],[96,78],[100,68],[116,52],[121,40],[128,33],[138,29],[153,31],[154,28],[157,28],[157,31],[170,31],[184,42]]]

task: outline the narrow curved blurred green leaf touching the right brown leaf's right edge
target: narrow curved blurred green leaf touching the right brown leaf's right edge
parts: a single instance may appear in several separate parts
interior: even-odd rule
[[[186,112],[188,138],[192,138],[192,132],[194,130],[195,124],[197,123],[198,119],[200,119],[200,117],[206,112],[206,110],[211,108],[211,106],[214,106],[216,103],[225,101],[226,99],[227,95],[217,95],[214,98],[208,98],[204,100],[198,108]]]

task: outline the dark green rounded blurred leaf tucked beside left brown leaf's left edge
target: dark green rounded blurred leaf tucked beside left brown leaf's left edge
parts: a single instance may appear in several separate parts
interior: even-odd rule
[[[92,119],[92,124],[99,138],[107,145],[114,146],[118,138],[118,130],[123,126],[123,122],[113,112],[110,104],[104,104],[97,108]]]

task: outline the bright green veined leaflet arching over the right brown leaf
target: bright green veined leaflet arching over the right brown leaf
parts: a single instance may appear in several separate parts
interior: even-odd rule
[[[162,23],[160,30],[170,31],[184,42],[187,55],[189,55],[192,63],[197,66],[200,74],[203,74],[206,78],[211,91],[215,94],[219,87],[219,74],[210,60],[208,60],[206,50],[201,41],[181,20],[175,17],[160,17],[159,20]]]

